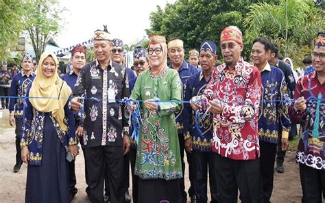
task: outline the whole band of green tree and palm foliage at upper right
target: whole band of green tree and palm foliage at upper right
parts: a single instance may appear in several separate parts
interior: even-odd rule
[[[146,31],[148,35],[163,35],[167,40],[181,38],[189,51],[199,49],[206,39],[219,44],[221,30],[236,25],[244,33],[245,59],[250,57],[252,40],[262,36],[280,42],[281,53],[287,50],[287,56],[298,58],[306,54],[300,48],[313,47],[318,31],[324,31],[324,12],[310,0],[287,1],[288,25],[285,0],[178,0],[167,4],[165,10],[158,6],[149,16],[151,27]]]

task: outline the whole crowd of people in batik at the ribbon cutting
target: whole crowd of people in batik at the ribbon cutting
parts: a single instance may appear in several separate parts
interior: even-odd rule
[[[267,38],[253,41],[250,62],[243,46],[240,29],[226,27],[218,45],[204,40],[186,61],[180,38],[153,35],[147,49],[134,50],[132,70],[123,66],[123,41],[104,29],[93,37],[96,59],[86,63],[86,49],[75,46],[62,77],[49,52],[35,73],[28,53],[15,75],[3,64],[1,95],[10,92],[10,101],[2,107],[16,126],[14,172],[27,163],[25,202],[73,200],[79,143],[89,202],[207,202],[208,185],[211,202],[270,202],[274,167],[285,172],[297,134],[302,202],[322,202],[325,33],[304,72],[278,59]]]

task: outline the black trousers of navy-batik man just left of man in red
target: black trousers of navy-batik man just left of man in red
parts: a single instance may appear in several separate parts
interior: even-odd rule
[[[215,152],[200,152],[196,150],[192,152],[192,164],[195,170],[195,195],[198,203],[208,202],[208,175],[211,203],[217,202],[217,178],[215,178],[213,153]]]

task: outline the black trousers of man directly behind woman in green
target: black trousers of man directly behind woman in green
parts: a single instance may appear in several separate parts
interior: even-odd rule
[[[183,134],[178,134],[178,139],[180,142],[180,159],[182,161],[182,173],[183,173],[183,178],[180,178],[180,194],[182,195],[182,202],[186,202],[186,191],[185,191],[185,182],[184,182],[184,174],[185,174],[185,162],[184,162],[184,151],[185,151],[185,141],[184,141],[184,135]],[[189,187],[189,195],[195,195],[195,189],[194,189],[194,173],[193,173],[193,166],[192,166],[192,157],[191,153],[186,152],[186,157],[187,157],[187,163],[189,163],[189,179],[190,179],[190,187]]]

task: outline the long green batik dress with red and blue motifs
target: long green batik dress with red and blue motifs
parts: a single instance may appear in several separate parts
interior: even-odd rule
[[[176,70],[165,68],[160,76],[152,77],[146,70],[136,79],[131,98],[135,100],[161,100],[156,111],[143,109],[139,144],[136,150],[134,174],[141,179],[173,180],[182,178],[180,145],[174,112],[182,100],[182,82]]]

